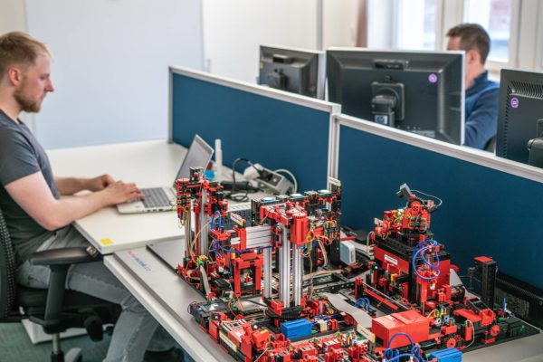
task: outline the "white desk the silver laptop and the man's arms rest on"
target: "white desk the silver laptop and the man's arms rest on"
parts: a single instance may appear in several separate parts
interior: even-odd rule
[[[55,176],[93,177],[107,173],[140,187],[172,185],[186,148],[153,140],[66,148],[48,152]],[[102,254],[179,237],[175,212],[119,214],[106,207],[75,222]]]

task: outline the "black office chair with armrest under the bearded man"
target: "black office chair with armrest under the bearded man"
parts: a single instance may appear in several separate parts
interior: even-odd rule
[[[91,248],[91,247],[90,247]],[[0,210],[0,322],[30,319],[52,335],[52,362],[82,361],[81,349],[66,355],[60,345],[60,333],[71,328],[85,328],[90,339],[101,340],[103,325],[113,323],[120,308],[105,300],[77,291],[65,291],[66,274],[71,264],[96,261],[98,252],[90,248],[65,248],[34,252],[31,262],[51,268],[49,289],[32,289],[15,282],[14,245]]]

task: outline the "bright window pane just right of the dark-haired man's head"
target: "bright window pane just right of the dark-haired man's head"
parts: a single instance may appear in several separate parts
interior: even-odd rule
[[[481,24],[491,36],[493,62],[510,62],[511,0],[468,0],[465,4],[465,21]]]

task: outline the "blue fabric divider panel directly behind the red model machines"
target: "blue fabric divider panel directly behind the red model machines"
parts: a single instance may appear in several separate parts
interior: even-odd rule
[[[344,224],[372,230],[383,211],[404,207],[395,192],[407,183],[443,200],[431,230],[461,275],[485,255],[543,288],[542,184],[345,126],[339,145]]]

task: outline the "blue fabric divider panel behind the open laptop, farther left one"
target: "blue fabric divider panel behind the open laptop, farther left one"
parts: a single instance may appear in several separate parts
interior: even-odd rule
[[[176,73],[172,111],[176,143],[188,147],[195,133],[212,146],[221,138],[224,166],[245,157],[290,170],[299,191],[326,188],[329,112]]]

